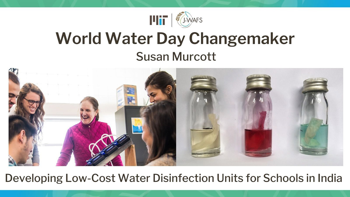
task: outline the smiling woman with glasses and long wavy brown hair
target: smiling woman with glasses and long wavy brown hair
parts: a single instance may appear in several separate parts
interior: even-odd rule
[[[26,83],[21,88],[14,113],[27,118],[37,128],[38,134],[41,134],[45,114],[44,104],[45,97],[42,91],[35,84]],[[24,165],[39,165],[39,152],[36,144]]]

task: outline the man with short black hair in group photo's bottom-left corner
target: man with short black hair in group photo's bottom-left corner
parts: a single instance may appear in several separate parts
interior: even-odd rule
[[[8,117],[8,165],[24,164],[33,149],[36,129],[25,117]]]

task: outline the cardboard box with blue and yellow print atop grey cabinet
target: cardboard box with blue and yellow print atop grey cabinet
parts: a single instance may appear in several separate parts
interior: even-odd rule
[[[124,84],[117,88],[117,110],[123,106],[137,106],[136,86]]]

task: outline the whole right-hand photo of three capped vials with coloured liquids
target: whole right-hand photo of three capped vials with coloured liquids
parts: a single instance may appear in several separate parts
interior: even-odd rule
[[[342,68],[176,73],[178,166],[343,165]]]

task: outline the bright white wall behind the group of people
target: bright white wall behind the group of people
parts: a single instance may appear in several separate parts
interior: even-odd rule
[[[19,72],[21,86],[27,82],[37,84],[47,99],[44,106],[47,116],[78,116],[79,105],[76,104],[85,96],[93,96],[99,102],[100,121],[108,123],[113,133],[115,133],[116,129],[114,113],[117,111],[117,88],[123,84],[137,86],[138,105],[144,106],[144,101],[147,102],[148,100],[144,88],[145,81],[149,75],[159,70],[159,68],[93,68],[84,70],[84,68],[79,69],[78,67],[71,70],[48,68],[40,69],[40,71],[33,71],[31,69],[26,69],[27,68],[21,68]],[[176,79],[175,68],[161,68],[160,70],[168,72]],[[57,74],[60,74],[58,78],[56,76]],[[61,80],[65,80],[62,75],[76,75],[77,79],[73,80],[67,78],[69,81],[62,83]],[[52,79],[53,77],[57,79]],[[43,78],[45,78],[44,81],[42,80]],[[80,86],[79,90],[77,89],[75,92],[74,89],[67,88],[64,90],[62,88],[70,82],[77,83]],[[57,85],[57,89],[47,84],[55,84]],[[87,86],[81,87],[83,84],[87,84],[88,88],[86,88]],[[50,97],[48,94],[54,96]],[[67,100],[62,94],[77,94],[79,97],[72,95],[70,98],[73,97],[74,99]],[[61,100],[57,100],[58,95],[62,97]],[[68,102],[71,104],[67,104]]]

